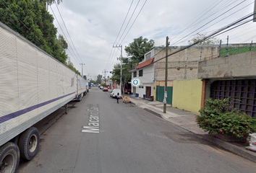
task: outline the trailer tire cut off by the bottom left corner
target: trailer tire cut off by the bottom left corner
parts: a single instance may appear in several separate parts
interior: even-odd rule
[[[14,173],[20,162],[20,150],[16,143],[6,143],[0,148],[0,172]]]

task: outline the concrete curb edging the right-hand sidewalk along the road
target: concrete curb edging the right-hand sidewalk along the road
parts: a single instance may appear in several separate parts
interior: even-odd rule
[[[134,105],[136,105],[136,106],[138,106],[138,107],[140,107],[140,105],[137,105],[135,102],[132,102],[132,101],[131,101],[131,103],[134,104]],[[253,161],[253,162],[256,163],[256,154],[255,154],[253,151],[248,151],[248,150],[247,150],[245,147],[243,147],[243,146],[236,146],[236,145],[234,145],[234,144],[232,144],[232,143],[223,141],[223,140],[221,140],[221,139],[219,139],[219,138],[216,138],[216,137],[214,137],[214,136],[210,136],[210,135],[208,135],[208,134],[206,134],[206,135],[197,134],[197,133],[193,132],[192,130],[189,130],[189,129],[184,128],[184,127],[182,127],[181,125],[179,125],[179,124],[177,124],[177,123],[175,123],[175,122],[172,122],[172,121],[169,120],[168,118],[163,117],[160,113],[155,112],[154,110],[150,110],[150,109],[145,108],[145,107],[140,107],[140,108],[142,108],[143,110],[146,110],[146,111],[152,113],[153,115],[156,115],[156,116],[158,116],[158,117],[161,117],[161,118],[163,118],[164,120],[167,120],[168,122],[173,123],[174,125],[178,125],[180,128],[183,128],[183,129],[185,129],[185,130],[188,130],[188,131],[191,132],[191,133],[194,133],[196,136],[199,136],[200,138],[205,139],[205,141],[209,141],[210,143],[214,144],[215,146],[218,146],[218,147],[220,147],[220,148],[223,148],[223,149],[226,150],[226,151],[230,151],[230,152],[233,153],[233,154],[237,154],[237,155],[239,155],[239,156],[244,157],[245,159],[248,159],[248,160]]]

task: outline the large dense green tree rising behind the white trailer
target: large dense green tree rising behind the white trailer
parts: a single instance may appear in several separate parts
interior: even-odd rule
[[[61,0],[48,2],[60,3]],[[67,43],[62,35],[56,36],[54,17],[46,10],[46,1],[1,1],[0,21],[78,72],[70,62],[67,62]]]

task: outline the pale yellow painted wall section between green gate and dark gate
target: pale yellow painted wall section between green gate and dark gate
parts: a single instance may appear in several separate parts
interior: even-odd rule
[[[199,113],[202,98],[202,81],[200,79],[174,81],[172,107]]]

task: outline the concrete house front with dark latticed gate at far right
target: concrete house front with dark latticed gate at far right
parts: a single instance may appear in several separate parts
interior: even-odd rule
[[[223,56],[201,61],[198,78],[202,79],[202,106],[208,98],[229,97],[231,107],[256,118],[256,45],[232,45]]]

